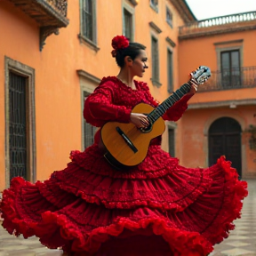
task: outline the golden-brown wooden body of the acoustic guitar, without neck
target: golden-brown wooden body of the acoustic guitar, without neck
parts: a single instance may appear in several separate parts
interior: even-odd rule
[[[154,109],[140,103],[132,109],[132,113],[149,114]],[[101,143],[107,151],[104,156],[117,169],[140,164],[147,156],[150,140],[163,134],[164,130],[162,117],[156,120],[150,131],[144,132],[132,123],[108,122],[101,128]]]

